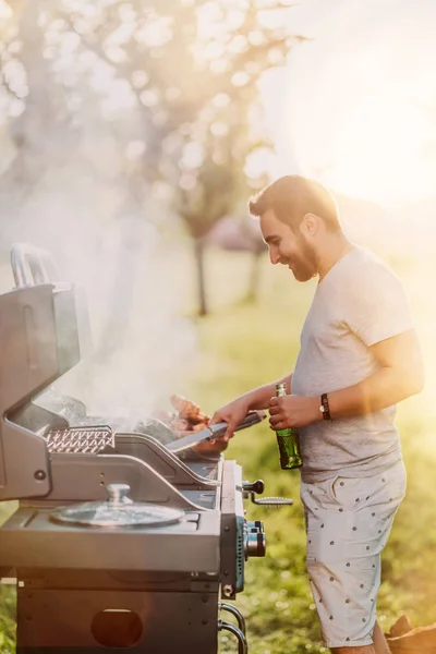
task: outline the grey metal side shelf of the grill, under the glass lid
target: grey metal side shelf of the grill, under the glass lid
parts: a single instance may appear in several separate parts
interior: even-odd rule
[[[49,509],[22,508],[1,528],[0,561],[11,568],[218,573],[219,511],[199,513],[197,523],[189,516],[162,528],[93,529],[53,523]]]

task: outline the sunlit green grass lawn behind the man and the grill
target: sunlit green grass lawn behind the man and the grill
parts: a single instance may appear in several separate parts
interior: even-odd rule
[[[419,287],[420,292],[414,290],[420,269],[417,264],[412,264],[404,266],[404,281],[419,330],[424,335],[427,367],[433,368],[433,329],[429,327],[433,316],[427,294],[422,287]],[[173,265],[180,267],[175,275],[189,291],[185,307],[186,313],[192,314],[195,298],[191,259],[183,255],[174,258]],[[192,375],[186,375],[182,387],[172,390],[192,397],[208,413],[234,396],[289,372],[298,353],[299,334],[314,284],[298,284],[288,270],[272,268],[264,261],[259,301],[247,304],[243,298],[249,266],[245,255],[213,252],[207,261],[211,313],[196,320],[201,347]],[[426,393],[404,402],[398,415],[409,485],[384,555],[378,615],[386,631],[401,611],[416,626],[435,621],[436,447],[432,375]],[[237,602],[247,619],[250,652],[323,652],[304,570],[299,474],[279,469],[275,437],[267,424],[238,434],[231,440],[227,457],[242,465],[244,479],[263,479],[266,495],[294,499],[294,506],[281,509],[246,502],[247,518],[263,520],[267,533],[267,556],[247,561],[245,591]],[[8,591],[0,617],[0,639],[2,632],[8,634],[0,646],[2,654],[8,652],[5,643],[11,642],[12,602]],[[233,637],[221,635],[220,645],[222,652],[237,651]]]

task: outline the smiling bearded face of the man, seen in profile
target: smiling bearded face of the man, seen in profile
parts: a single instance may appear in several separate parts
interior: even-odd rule
[[[289,225],[281,222],[272,209],[261,216],[261,230],[269,247],[271,264],[288,266],[298,281],[308,281],[317,274],[317,256],[313,245],[301,231],[295,234]]]

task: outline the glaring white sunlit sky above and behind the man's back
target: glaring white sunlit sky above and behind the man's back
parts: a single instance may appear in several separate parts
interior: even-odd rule
[[[349,233],[409,261],[403,282],[426,355],[422,398],[434,415],[436,5],[306,0],[288,20],[307,40],[264,80],[276,146],[264,161],[272,178],[291,171],[328,185]]]

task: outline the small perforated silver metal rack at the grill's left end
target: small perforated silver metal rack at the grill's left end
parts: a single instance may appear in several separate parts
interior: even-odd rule
[[[47,448],[57,455],[98,455],[106,447],[116,447],[110,427],[74,427],[72,429],[50,429]]]

